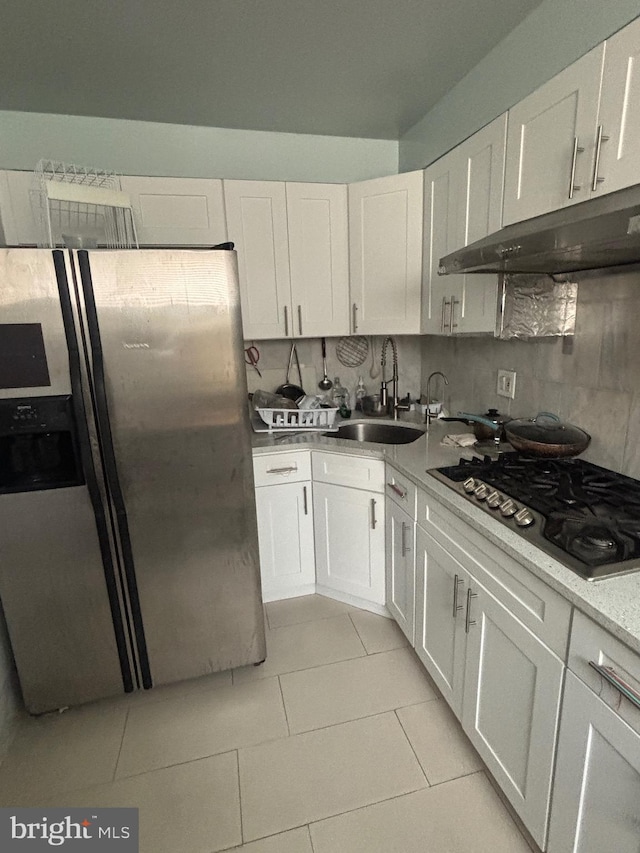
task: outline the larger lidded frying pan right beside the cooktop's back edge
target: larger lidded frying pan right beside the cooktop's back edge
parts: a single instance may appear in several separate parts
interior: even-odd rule
[[[516,418],[504,426],[507,441],[526,456],[558,459],[577,456],[591,441],[589,433],[564,423],[557,415],[539,412],[533,418]]]

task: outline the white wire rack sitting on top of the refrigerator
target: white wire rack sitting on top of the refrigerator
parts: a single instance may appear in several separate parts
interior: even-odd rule
[[[115,172],[39,160],[30,195],[41,248],[138,248],[131,199]]]

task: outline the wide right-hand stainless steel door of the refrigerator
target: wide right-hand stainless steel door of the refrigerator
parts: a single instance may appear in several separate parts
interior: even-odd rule
[[[265,657],[234,252],[80,252],[155,684]]]

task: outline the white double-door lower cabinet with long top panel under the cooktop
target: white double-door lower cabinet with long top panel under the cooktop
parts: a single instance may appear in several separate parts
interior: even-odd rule
[[[544,614],[566,649],[570,607],[436,500],[417,504],[416,652],[544,848],[564,665],[523,620]]]

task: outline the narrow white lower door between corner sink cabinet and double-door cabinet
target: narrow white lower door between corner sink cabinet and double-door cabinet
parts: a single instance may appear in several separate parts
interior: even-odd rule
[[[387,609],[414,644],[415,634],[415,521],[387,499],[385,506]]]

